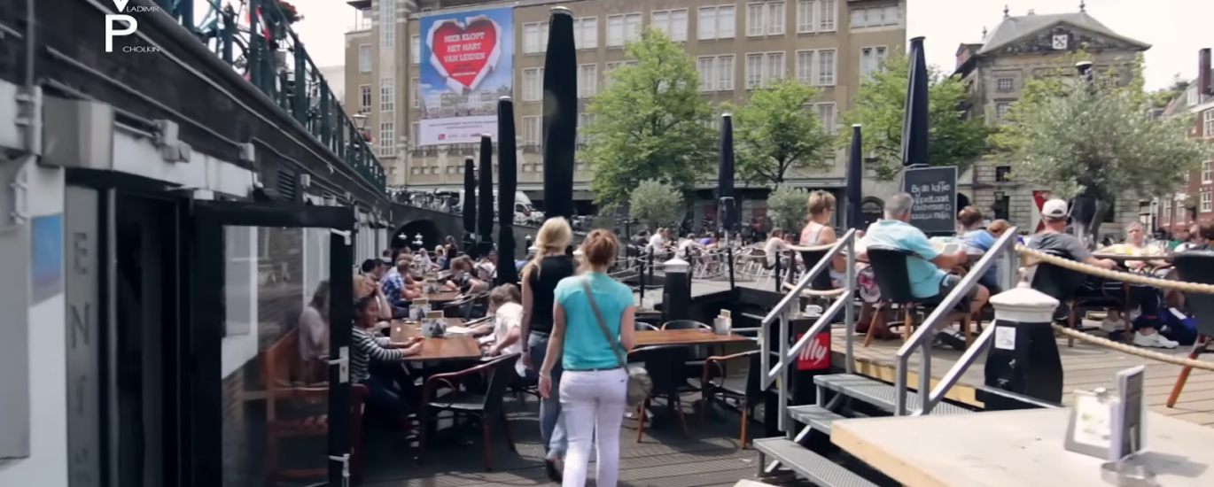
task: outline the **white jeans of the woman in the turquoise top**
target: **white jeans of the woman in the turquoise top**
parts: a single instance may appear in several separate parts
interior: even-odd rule
[[[628,373],[565,370],[561,375],[561,409],[569,436],[565,454],[563,487],[584,487],[590,463],[590,438],[599,452],[595,477],[599,487],[615,487],[619,476],[619,427],[628,402]]]

